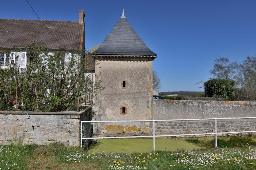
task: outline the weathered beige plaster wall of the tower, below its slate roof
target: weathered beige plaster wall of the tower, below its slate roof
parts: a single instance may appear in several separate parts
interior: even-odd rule
[[[95,66],[95,76],[102,79],[102,90],[95,97],[95,120],[146,120],[152,118],[152,58],[102,57]],[[128,87],[121,88],[127,81]],[[127,107],[127,115],[120,107]],[[146,123],[95,123],[95,134],[149,131]]]

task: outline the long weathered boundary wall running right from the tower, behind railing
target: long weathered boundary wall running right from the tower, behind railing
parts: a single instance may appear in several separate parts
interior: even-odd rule
[[[153,118],[256,117],[256,102],[153,100]],[[155,122],[156,135],[214,133],[215,120]],[[217,120],[217,132],[255,131],[256,119]]]

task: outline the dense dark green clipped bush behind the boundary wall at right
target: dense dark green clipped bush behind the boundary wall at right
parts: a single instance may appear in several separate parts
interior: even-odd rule
[[[226,79],[210,79],[204,82],[206,97],[231,99],[234,96],[235,82]]]

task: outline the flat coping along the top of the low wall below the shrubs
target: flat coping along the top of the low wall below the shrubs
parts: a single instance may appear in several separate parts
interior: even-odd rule
[[[83,110],[77,111],[0,111],[0,114],[14,114],[14,115],[81,115],[87,110],[89,110],[91,106],[87,106]]]

